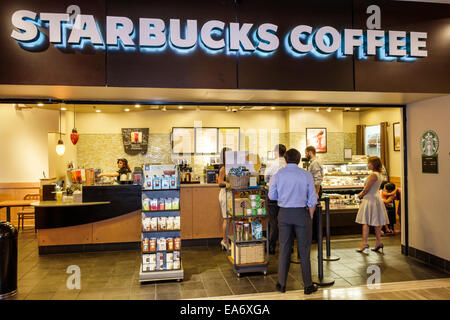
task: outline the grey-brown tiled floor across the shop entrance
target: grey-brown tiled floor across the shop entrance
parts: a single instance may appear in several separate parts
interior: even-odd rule
[[[372,246],[374,240],[369,242]],[[381,282],[447,278],[400,253],[400,235],[384,238],[385,252],[355,252],[359,239],[336,238],[332,254],[339,261],[324,262],[324,276],[335,279],[333,288],[366,283],[367,267],[381,269]],[[182,282],[140,284],[139,251],[116,251],[39,256],[32,230],[19,234],[18,294],[14,299],[192,299],[275,291],[277,255],[270,256],[268,275],[247,274],[238,278],[219,247],[188,247],[182,250],[185,279]],[[317,275],[317,245],[311,249],[313,275]],[[67,267],[81,269],[81,289],[69,290]],[[300,266],[291,264],[287,290],[302,289]]]

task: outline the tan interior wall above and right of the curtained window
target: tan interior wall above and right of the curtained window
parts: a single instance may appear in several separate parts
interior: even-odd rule
[[[402,111],[400,108],[372,109],[361,112],[359,122],[368,126],[379,125],[381,122],[388,122],[388,143],[389,143],[389,175],[392,177],[402,176],[402,152],[394,151],[394,122],[400,122],[402,125]]]

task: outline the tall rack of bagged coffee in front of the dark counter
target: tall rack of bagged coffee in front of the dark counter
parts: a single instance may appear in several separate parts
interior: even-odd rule
[[[168,166],[168,167],[172,167]],[[142,200],[144,201],[144,198],[174,198],[177,197],[180,199],[180,181],[179,181],[179,171],[176,171],[177,175],[177,188],[173,189],[149,189],[149,188],[142,188]],[[144,210],[142,208],[142,219],[144,218],[160,218],[160,217],[180,217],[180,202],[178,202],[178,208],[177,210]],[[158,226],[159,228],[159,226]],[[154,252],[144,252],[144,248],[142,245],[142,242],[145,238],[167,238],[171,237],[175,239],[175,237],[180,238],[180,248],[179,250],[175,250],[175,244],[173,250],[158,250],[158,246],[156,246],[156,250]],[[166,270],[167,267],[167,253],[174,253],[178,251],[179,252],[179,259],[180,259],[180,267],[179,269],[170,269]],[[140,271],[139,271],[139,282],[148,282],[148,281],[162,281],[162,280],[177,280],[182,281],[184,278],[184,270],[183,270],[183,264],[182,264],[182,258],[181,258],[181,224],[180,228],[173,229],[173,230],[153,230],[153,231],[147,231],[144,230],[142,227],[142,241],[141,241],[141,253],[142,255],[148,255],[148,254],[157,254],[161,253],[164,255],[164,269],[163,270],[157,270],[154,271],[143,271],[143,261],[141,262]],[[156,263],[159,263],[156,261]]]

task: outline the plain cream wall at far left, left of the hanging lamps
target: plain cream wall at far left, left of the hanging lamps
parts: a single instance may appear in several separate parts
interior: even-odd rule
[[[57,130],[55,111],[0,104],[0,182],[36,182],[42,171],[48,177],[47,133]]]

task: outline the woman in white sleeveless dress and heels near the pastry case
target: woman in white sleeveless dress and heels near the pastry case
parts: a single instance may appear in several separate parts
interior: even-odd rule
[[[379,157],[370,157],[368,159],[369,170],[372,171],[367,178],[363,191],[358,194],[362,199],[361,205],[356,216],[356,222],[363,225],[363,239],[361,247],[358,252],[364,252],[369,249],[367,238],[369,236],[369,226],[375,227],[375,235],[377,243],[375,249],[372,251],[383,251],[383,244],[381,243],[381,228],[383,225],[389,223],[386,212],[386,207],[380,196],[380,185],[382,182],[381,170],[382,164]]]

